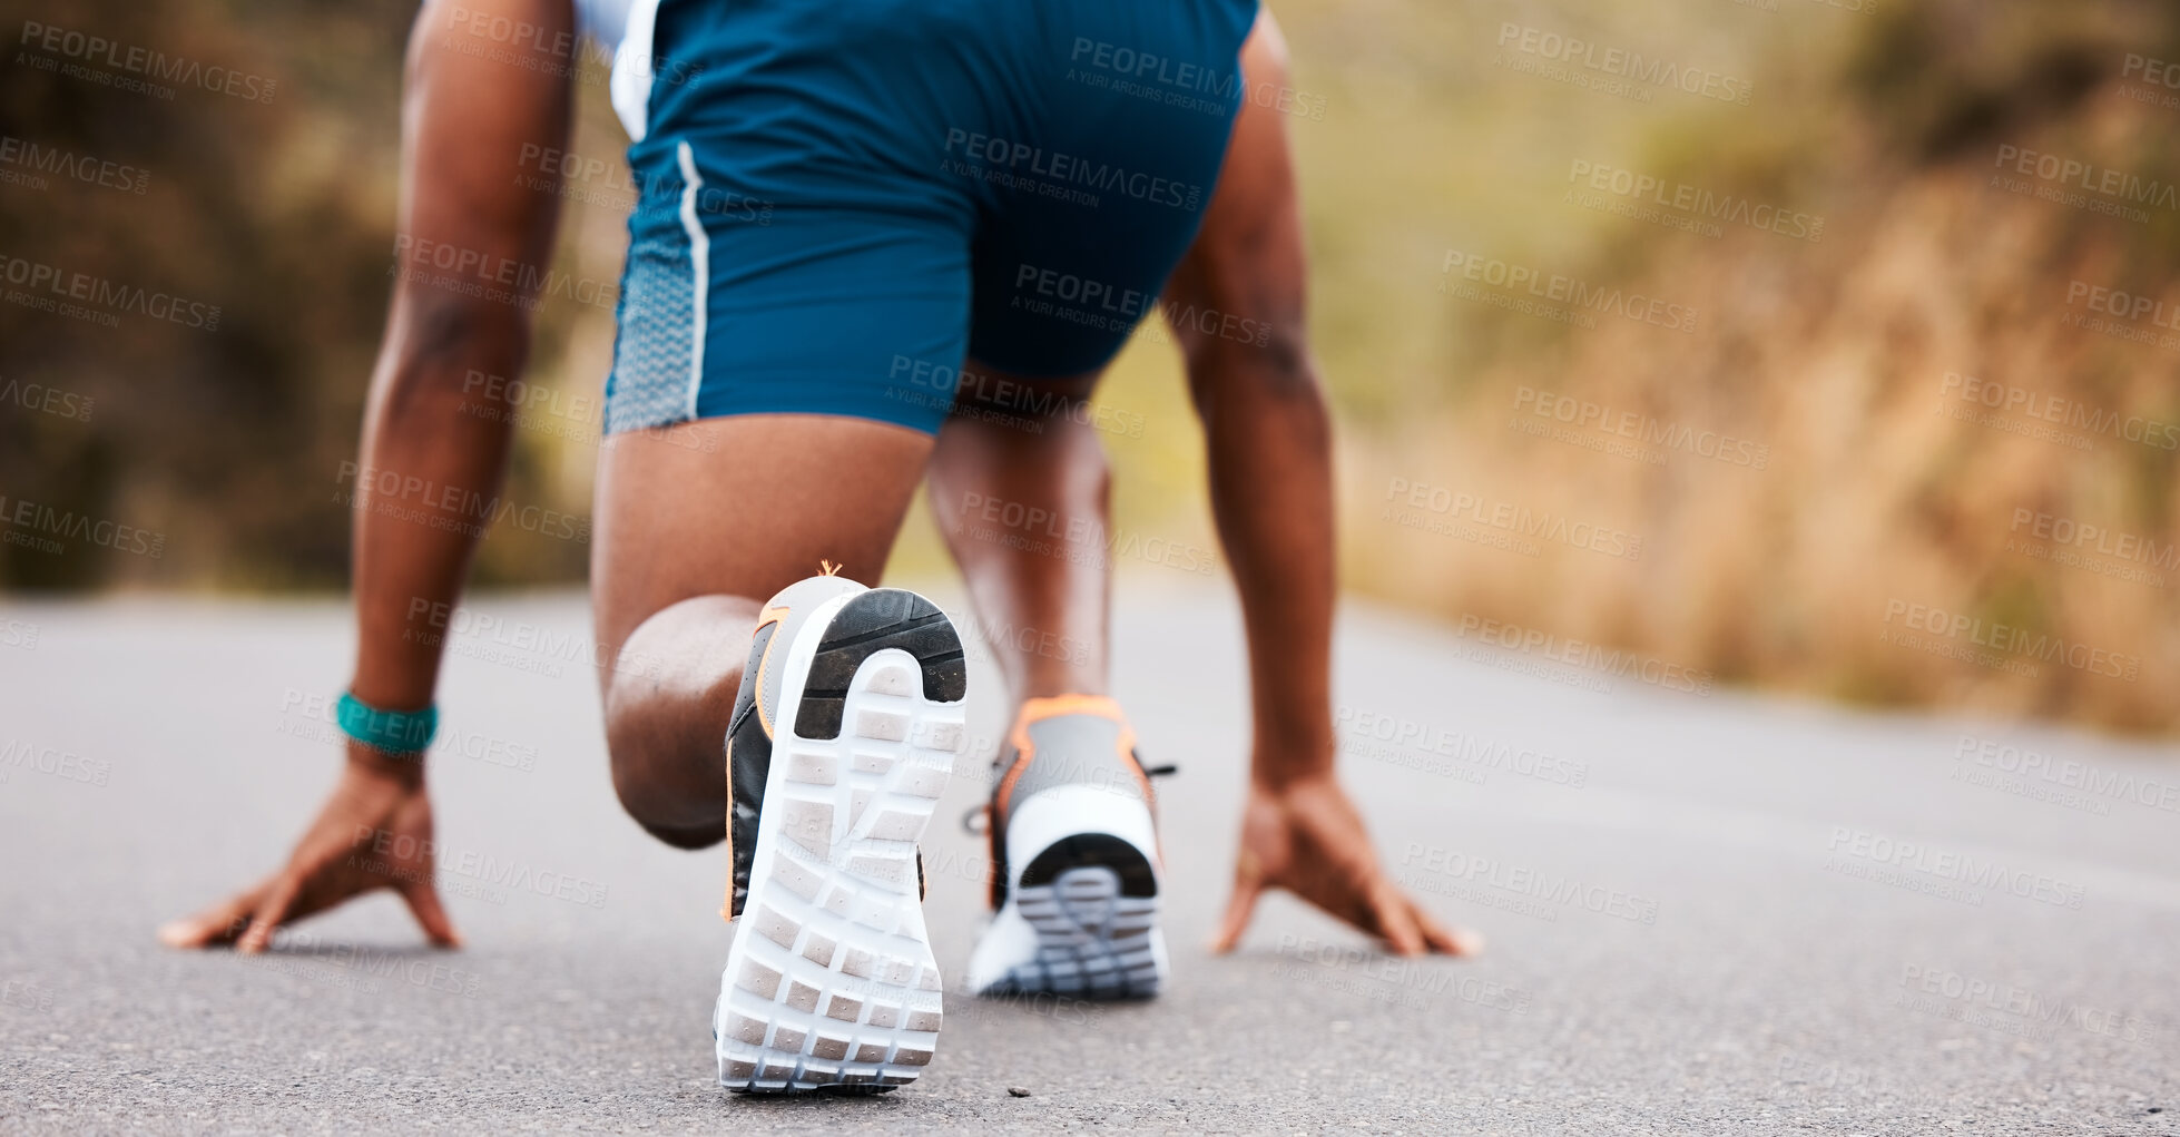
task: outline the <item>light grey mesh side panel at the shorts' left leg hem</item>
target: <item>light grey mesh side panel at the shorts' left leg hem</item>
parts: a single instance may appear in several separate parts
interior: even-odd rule
[[[687,240],[645,240],[628,251],[621,334],[606,380],[606,434],[689,417],[695,369],[695,260]]]

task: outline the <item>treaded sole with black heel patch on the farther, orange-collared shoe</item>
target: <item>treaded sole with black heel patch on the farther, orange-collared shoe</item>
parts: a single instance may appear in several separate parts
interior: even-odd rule
[[[1036,930],[1038,954],[992,995],[1158,995],[1158,875],[1131,842],[1112,834],[1057,840],[1022,869],[1007,901]]]

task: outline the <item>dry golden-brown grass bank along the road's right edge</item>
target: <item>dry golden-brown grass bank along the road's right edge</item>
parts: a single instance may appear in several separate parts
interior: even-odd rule
[[[2099,94],[2064,122],[2012,137],[2139,155],[2167,129]],[[2180,336],[2167,330],[2171,347],[2154,347],[2067,321],[2084,314],[2069,306],[2073,282],[2152,284],[2180,306],[2180,290],[2143,271],[2141,249],[2130,253],[2130,242],[2167,238],[2171,223],[2093,218],[2003,192],[1988,183],[1993,153],[1873,170],[1890,183],[1829,218],[1822,244],[1729,229],[1661,249],[1624,286],[1696,306],[1705,332],[1604,319],[1500,358],[1458,406],[1393,436],[1349,439],[1349,578],[1450,618],[1624,646],[1724,681],[2171,729],[2180,515],[2169,447],[2180,430],[2156,423],[2180,421]],[[1962,399],[1966,384],[1949,386],[1949,373],[2003,384],[2027,406],[2064,399],[2062,417],[2082,408],[2075,426],[2054,426],[2088,436],[2091,450],[2014,432],[2043,426],[2021,406],[1995,410],[2003,426],[1962,421],[1953,412],[1993,410]],[[1517,406],[1524,386],[1751,439],[1768,445],[1768,465],[1685,452],[1652,465],[1535,439],[1509,426],[1546,421]],[[2126,432],[2130,419],[2152,426],[2149,443],[2093,432],[2108,421]],[[1524,554],[1404,528],[1382,519],[1397,484],[1624,530],[1642,552],[1539,541]],[[2108,548],[2121,548],[2119,535],[2149,546],[2141,559],[2073,548],[2106,572],[2038,559],[2025,548],[2062,546],[2017,526],[2017,511],[2102,526]],[[1912,631],[1901,605],[1979,620],[1923,639],[1986,650],[1951,659],[1899,644]],[[2073,666],[2043,657],[2045,637],[2064,642]],[[2128,661],[2132,677],[2099,674]]]

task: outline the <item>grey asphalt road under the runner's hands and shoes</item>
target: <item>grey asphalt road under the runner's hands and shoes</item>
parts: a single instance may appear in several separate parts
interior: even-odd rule
[[[475,618],[434,775],[471,947],[421,949],[375,897],[244,960],[153,930],[272,866],[329,783],[344,609],[0,609],[0,1128],[2180,1130],[2173,753],[1674,692],[1352,609],[1343,770],[1395,871],[1491,947],[1402,965],[1273,899],[1210,958],[1238,624],[1149,585],[1121,589],[1116,657],[1147,757],[1182,766],[1173,993],[948,991],[916,1087],[730,1098],[719,855],[617,810],[578,596]],[[977,709],[964,770],[1003,714]],[[981,792],[955,779],[927,849],[950,969],[983,871],[950,818]]]

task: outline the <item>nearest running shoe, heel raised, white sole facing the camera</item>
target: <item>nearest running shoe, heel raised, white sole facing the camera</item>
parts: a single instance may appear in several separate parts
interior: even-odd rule
[[[719,1085],[894,1089],[931,1063],[942,984],[916,842],[966,694],[959,635],[913,591],[828,574],[765,605],[726,735]]]

